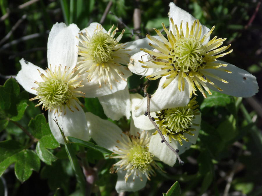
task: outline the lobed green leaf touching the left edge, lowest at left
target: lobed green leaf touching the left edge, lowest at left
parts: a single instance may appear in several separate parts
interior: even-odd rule
[[[22,145],[13,140],[0,142],[0,176],[15,163],[15,175],[21,182],[26,181],[32,174],[32,170],[40,169],[40,159],[32,150],[24,150]]]

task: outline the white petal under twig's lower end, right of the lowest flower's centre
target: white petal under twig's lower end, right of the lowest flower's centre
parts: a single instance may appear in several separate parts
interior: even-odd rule
[[[165,139],[169,142],[169,138],[165,136]],[[149,143],[149,151],[155,155],[160,161],[173,167],[176,163],[175,153],[168,148],[168,146],[163,142],[159,134],[153,135]],[[175,150],[178,148],[178,143],[174,139],[169,143]]]

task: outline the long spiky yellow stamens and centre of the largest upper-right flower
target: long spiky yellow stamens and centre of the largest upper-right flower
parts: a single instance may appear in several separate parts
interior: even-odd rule
[[[207,96],[203,88],[211,95],[212,93],[207,83],[211,84],[219,91],[222,91],[222,89],[215,85],[214,82],[211,82],[209,78],[224,83],[228,82],[206,70],[217,69],[231,73],[231,71],[223,68],[226,67],[227,64],[216,62],[217,58],[232,52],[231,50],[223,53],[231,46],[230,44],[219,48],[226,38],[217,39],[217,36],[215,36],[205,44],[208,37],[215,29],[215,26],[213,26],[207,34],[201,37],[202,25],[200,25],[199,20],[195,20],[191,28],[187,22],[186,29],[182,28],[183,21],[181,21],[180,28],[178,28],[178,26],[174,24],[173,19],[170,18],[170,20],[172,24],[170,31],[168,31],[162,23],[164,31],[167,33],[167,39],[161,34],[160,30],[157,29],[155,29],[155,31],[162,41],[147,35],[148,39],[151,39],[156,44],[153,45],[149,43],[155,50],[143,49],[143,51],[153,56],[153,59],[149,61],[139,60],[139,62],[145,64],[142,66],[144,68],[159,68],[160,70],[146,76],[146,78],[149,78],[149,80],[156,80],[157,78],[166,76],[166,81],[162,86],[163,88],[167,87],[175,78],[178,78],[178,89],[180,91],[184,91],[185,82],[189,84],[190,97],[192,97],[193,93],[197,95],[195,86],[197,86],[205,98]]]

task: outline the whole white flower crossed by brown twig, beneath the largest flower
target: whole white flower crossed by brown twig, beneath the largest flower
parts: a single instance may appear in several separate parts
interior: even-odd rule
[[[153,136],[149,143],[149,151],[154,156],[168,164],[174,166],[176,156],[169,147],[162,143],[162,139],[155,130],[154,125],[149,121],[148,116],[144,114],[136,117],[136,105],[143,100],[140,94],[131,94],[131,111],[134,126],[142,130],[154,129]],[[182,154],[190,148],[191,144],[197,142],[200,130],[201,114],[198,110],[199,105],[195,101],[195,97],[190,102],[181,107],[173,107],[163,109],[159,112],[151,112],[152,118],[155,120],[165,139],[174,148],[178,149],[178,154]]]

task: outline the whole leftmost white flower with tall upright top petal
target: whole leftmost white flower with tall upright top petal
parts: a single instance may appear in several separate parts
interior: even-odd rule
[[[49,110],[49,126],[59,143],[64,141],[53,120],[55,114],[65,136],[89,140],[87,121],[77,99],[85,96],[79,90],[82,87],[80,75],[75,72],[78,32],[75,24],[54,24],[47,42],[47,70],[21,59],[22,69],[16,77],[26,91],[36,95],[31,100],[39,99],[36,106],[43,104],[42,109]]]

